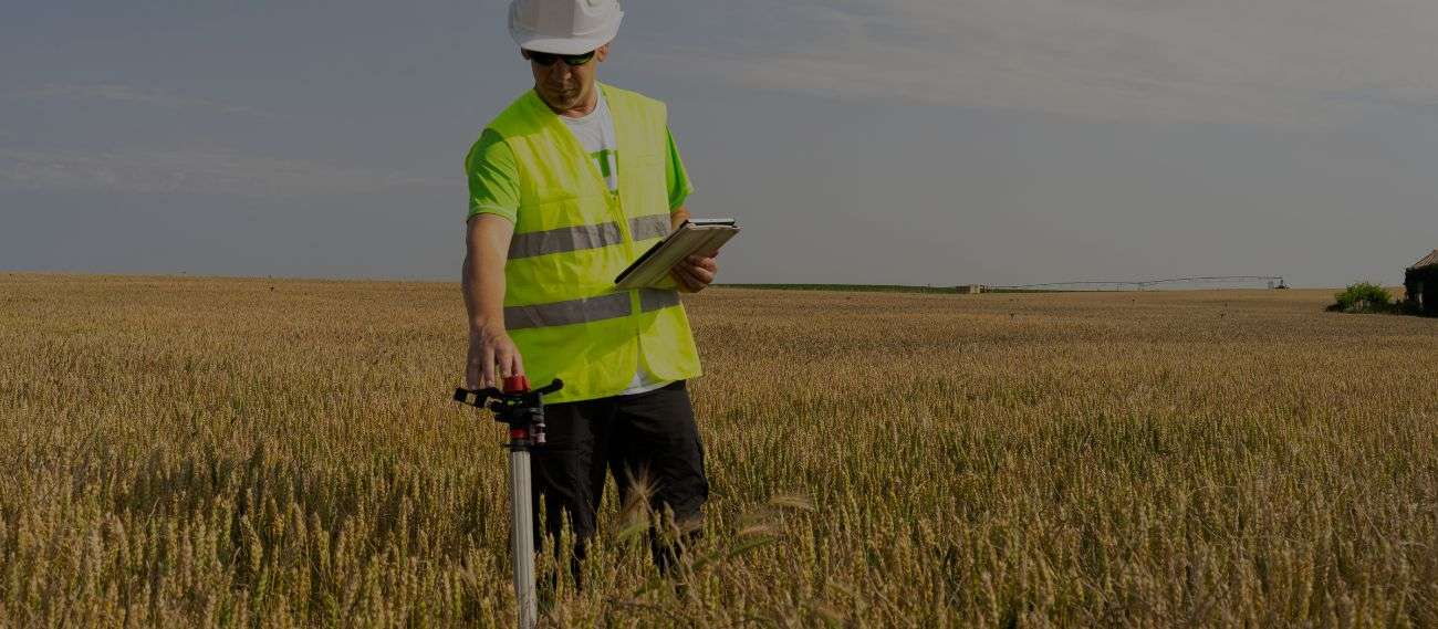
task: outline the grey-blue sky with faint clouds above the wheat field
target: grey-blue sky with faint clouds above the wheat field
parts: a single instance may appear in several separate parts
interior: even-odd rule
[[[506,1],[19,0],[0,270],[453,280]],[[1402,281],[1438,248],[1431,0],[628,0],[719,281]]]

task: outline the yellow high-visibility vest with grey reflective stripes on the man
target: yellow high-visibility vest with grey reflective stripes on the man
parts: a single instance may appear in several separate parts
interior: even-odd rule
[[[600,85],[614,118],[618,191],[533,90],[489,129],[513,149],[519,211],[505,266],[505,327],[535,386],[564,379],[552,402],[624,391],[640,365],[661,381],[700,375],[679,293],[615,290],[614,277],[669,234],[664,103]]]

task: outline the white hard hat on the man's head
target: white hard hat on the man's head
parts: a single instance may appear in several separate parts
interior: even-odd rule
[[[618,0],[513,0],[509,34],[525,50],[584,55],[610,43],[624,11]]]

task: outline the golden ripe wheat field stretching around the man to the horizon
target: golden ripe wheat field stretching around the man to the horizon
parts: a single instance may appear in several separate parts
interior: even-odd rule
[[[542,623],[1438,626],[1438,320],[1330,297],[686,297],[705,537],[611,493]],[[463,350],[454,284],[0,274],[0,626],[510,625]]]

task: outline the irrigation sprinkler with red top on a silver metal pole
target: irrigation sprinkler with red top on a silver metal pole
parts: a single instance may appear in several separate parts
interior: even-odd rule
[[[515,567],[515,603],[519,629],[531,629],[538,622],[535,596],[535,528],[533,498],[529,480],[529,449],[545,444],[544,396],[564,388],[555,379],[546,386],[529,391],[525,376],[505,378],[503,391],[454,389],[454,401],[493,411],[495,421],[509,427],[509,554]],[[486,405],[485,402],[489,401]]]

